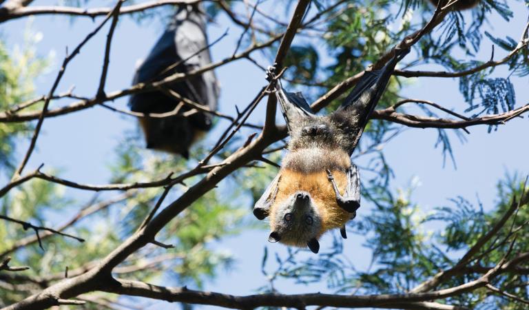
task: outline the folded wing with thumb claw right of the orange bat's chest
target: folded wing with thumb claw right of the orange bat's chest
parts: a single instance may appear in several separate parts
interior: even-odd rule
[[[358,170],[356,166],[352,165],[347,172],[347,186],[344,196],[340,194],[338,185],[336,185],[333,174],[329,169],[327,169],[327,178],[331,182],[331,185],[333,185],[338,206],[349,213],[355,213],[360,207],[360,178],[358,178]]]

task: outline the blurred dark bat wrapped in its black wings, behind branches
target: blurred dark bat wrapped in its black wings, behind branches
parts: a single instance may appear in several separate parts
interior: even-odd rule
[[[211,63],[208,46],[204,14],[198,6],[180,6],[172,23],[136,70],[133,85],[159,81],[176,72],[189,72]],[[213,71],[172,83],[168,88],[209,107],[211,111],[217,110],[219,91]],[[139,118],[147,149],[181,154],[188,158],[191,143],[211,128],[211,115],[197,111],[184,116],[191,108],[160,90],[134,94],[129,107],[134,112],[145,114],[172,112],[179,107],[178,114],[173,116]]]

